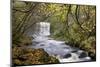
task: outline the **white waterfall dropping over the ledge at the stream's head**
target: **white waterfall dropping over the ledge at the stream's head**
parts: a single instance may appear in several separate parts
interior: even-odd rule
[[[48,22],[40,22],[36,24],[35,33],[33,37],[35,38],[33,41],[45,41],[48,39],[50,35],[50,23]]]

